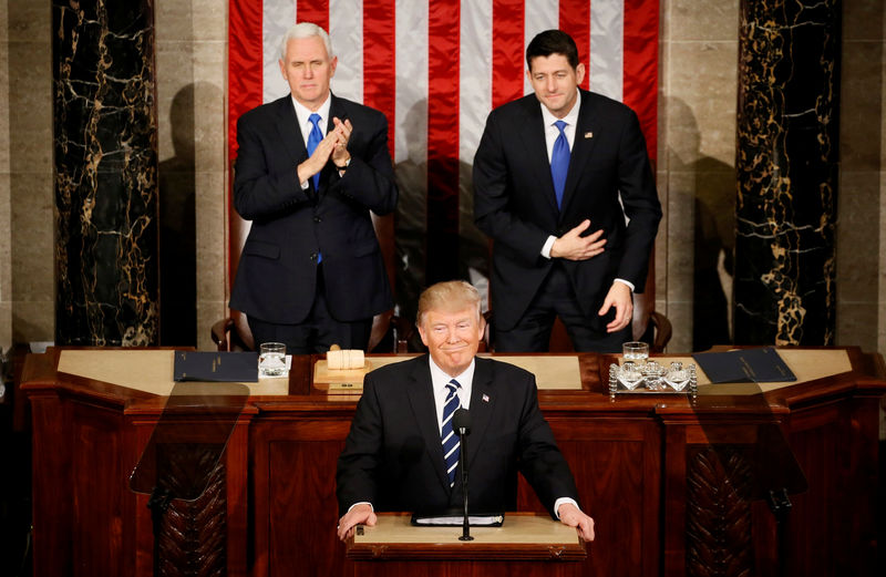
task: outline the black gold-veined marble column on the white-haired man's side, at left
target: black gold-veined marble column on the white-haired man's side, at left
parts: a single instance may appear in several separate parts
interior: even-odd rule
[[[157,342],[153,0],[52,0],[55,341]]]

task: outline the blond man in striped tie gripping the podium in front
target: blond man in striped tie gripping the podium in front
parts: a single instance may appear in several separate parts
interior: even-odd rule
[[[594,539],[594,521],[578,508],[575,481],[538,409],[535,377],[475,358],[485,329],[480,295],[464,281],[440,282],[419,299],[419,332],[429,356],[367,374],[351,431],[339,456],[339,538],[374,511],[443,512],[462,504],[456,474],[456,406],[470,410],[470,507],[516,507],[517,471],[554,518]]]

